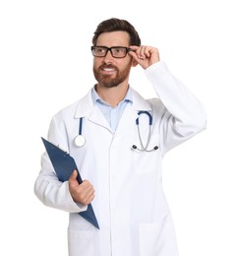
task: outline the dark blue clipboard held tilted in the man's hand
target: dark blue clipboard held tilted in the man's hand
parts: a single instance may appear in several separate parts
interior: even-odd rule
[[[74,169],[76,169],[78,171],[77,180],[81,184],[83,180],[81,178],[75,160],[67,152],[64,152],[63,150],[59,149],[59,147],[55,146],[54,144],[48,142],[43,138],[41,138],[41,140],[45,146],[48,157],[52,162],[58,179],[62,182],[68,180],[71,174],[73,173]],[[93,224],[96,228],[99,229],[99,225],[97,224],[91,204],[88,205],[87,211],[80,212],[79,214],[85,220],[90,222],[90,224]]]

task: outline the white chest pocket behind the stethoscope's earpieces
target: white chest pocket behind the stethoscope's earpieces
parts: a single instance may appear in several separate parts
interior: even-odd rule
[[[144,142],[143,142],[144,144]],[[146,147],[146,145],[144,145]],[[151,135],[147,149],[143,149],[139,138],[133,143],[134,170],[138,174],[157,171],[161,164],[161,153],[159,147],[159,135]]]

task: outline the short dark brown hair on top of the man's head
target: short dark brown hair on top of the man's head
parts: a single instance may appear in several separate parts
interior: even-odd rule
[[[135,30],[133,25],[125,20],[119,20],[117,18],[111,18],[101,22],[94,32],[92,37],[92,44],[95,45],[98,36],[102,32],[128,32],[130,35],[130,45],[141,45],[141,39],[139,33]]]

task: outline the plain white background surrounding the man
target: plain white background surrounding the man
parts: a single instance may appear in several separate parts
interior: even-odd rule
[[[0,255],[67,255],[68,214],[33,194],[40,137],[90,90],[91,37],[112,17],[158,47],[208,112],[208,129],[163,164],[180,255],[240,255],[239,11],[237,0],[0,2]],[[131,85],[154,96],[140,67]]]

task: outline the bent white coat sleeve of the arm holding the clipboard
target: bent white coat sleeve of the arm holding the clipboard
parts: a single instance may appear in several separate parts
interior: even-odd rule
[[[66,142],[64,143],[64,140],[61,138],[61,129],[63,128],[61,122],[57,125],[56,118],[54,117],[50,124],[48,140],[53,144],[66,147]],[[69,182],[58,180],[46,153],[41,156],[41,170],[34,183],[34,193],[44,205],[52,208],[68,213],[80,213],[87,210],[87,206],[76,204],[73,201],[69,191]]]

